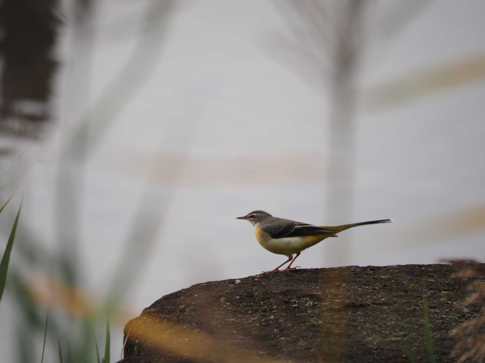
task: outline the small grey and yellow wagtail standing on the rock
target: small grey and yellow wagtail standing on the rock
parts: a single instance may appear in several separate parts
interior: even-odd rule
[[[389,223],[392,221],[392,219],[380,219],[378,221],[352,223],[350,225],[335,227],[313,226],[307,223],[291,221],[290,219],[276,218],[264,211],[254,211],[246,214],[244,217],[237,217],[236,219],[245,219],[254,226],[256,239],[264,249],[276,255],[288,257],[285,262],[274,270],[264,273],[295,270],[296,267],[291,267],[291,264],[295,261],[296,257],[300,256],[303,250],[314,246],[318,242],[322,242],[325,238],[338,237],[336,233],[344,231],[345,229],[377,223]],[[296,254],[295,258],[293,258],[294,254]],[[291,260],[292,258],[293,260]],[[286,269],[278,270],[288,262],[290,264]]]

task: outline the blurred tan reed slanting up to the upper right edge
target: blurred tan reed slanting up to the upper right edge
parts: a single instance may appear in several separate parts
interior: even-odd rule
[[[415,101],[447,88],[459,87],[485,77],[485,55],[468,57],[441,67],[413,72],[365,90],[369,112]]]

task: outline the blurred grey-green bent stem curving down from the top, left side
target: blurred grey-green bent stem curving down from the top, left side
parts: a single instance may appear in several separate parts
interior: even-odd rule
[[[81,4],[84,6],[85,13],[87,11],[86,3],[81,1]],[[79,194],[82,190],[79,177],[81,171],[75,168],[76,165],[73,162],[78,162],[77,166],[83,167],[87,152],[93,152],[96,149],[97,144],[123,106],[127,105],[129,99],[149,79],[149,75],[157,65],[156,56],[160,53],[162,36],[166,33],[169,15],[174,4],[173,0],[151,1],[151,5],[146,9],[141,40],[120,72],[121,76],[116,77],[113,83],[107,87],[107,91],[100,97],[93,111],[88,112],[65,145],[66,152],[62,153],[63,159],[59,175],[58,218],[56,220],[59,223],[59,240],[65,248],[65,272],[70,281],[75,280],[74,274],[77,270],[76,263],[72,259],[76,256],[77,242],[75,239],[79,235],[77,227],[80,209]],[[84,25],[85,27],[86,25]],[[82,26],[80,29],[84,31]]]

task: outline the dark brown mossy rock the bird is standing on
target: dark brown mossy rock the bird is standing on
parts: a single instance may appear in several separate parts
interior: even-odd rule
[[[455,303],[471,282],[450,265],[302,269],[197,284],[163,296],[125,327],[123,363],[429,362],[423,299],[437,362],[450,331],[480,314]]]

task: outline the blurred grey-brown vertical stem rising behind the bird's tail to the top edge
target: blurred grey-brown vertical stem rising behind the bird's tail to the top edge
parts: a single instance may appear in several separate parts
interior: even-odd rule
[[[334,50],[335,71],[330,84],[330,139],[327,174],[327,213],[337,220],[350,218],[353,212],[355,183],[355,76],[360,60],[361,31],[366,1],[347,3],[344,21],[337,27]],[[350,243],[335,244],[327,251],[333,263],[344,265],[350,256]]]

